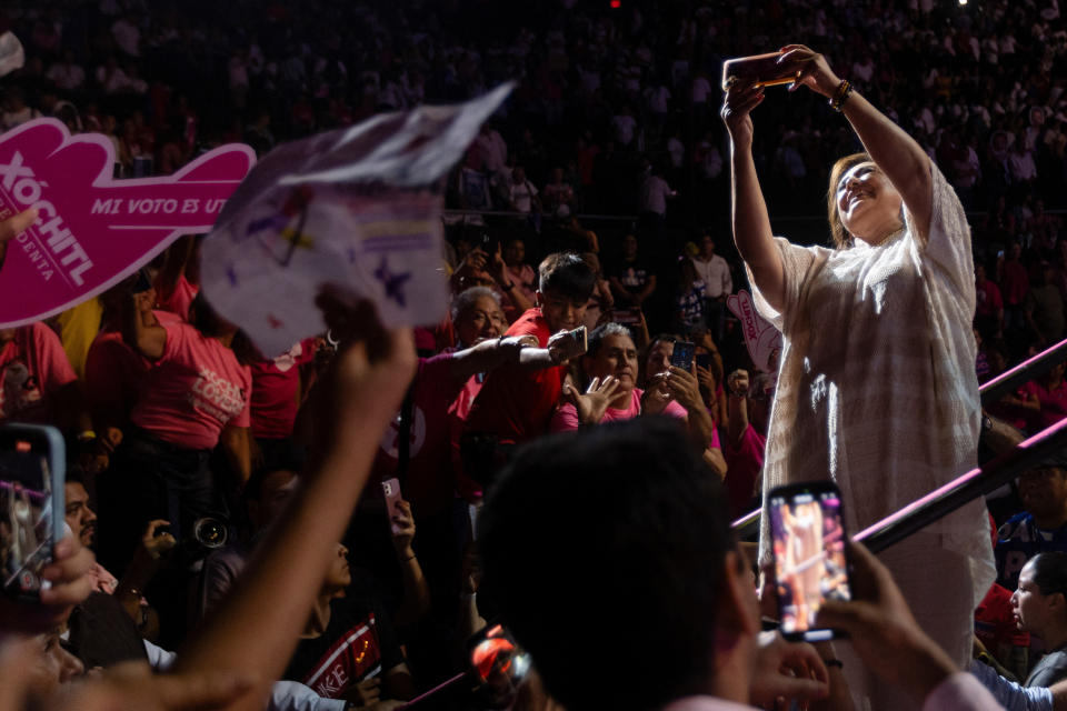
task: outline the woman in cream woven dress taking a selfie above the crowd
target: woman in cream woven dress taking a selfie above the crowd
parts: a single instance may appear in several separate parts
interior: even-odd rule
[[[764,491],[829,477],[856,533],[976,464],[970,232],[919,144],[821,54],[790,44],[778,66],[794,77],[790,91],[826,97],[866,152],[830,171],[834,247],[791,244],[771,233],[752,160],[749,114],[764,89],[742,80],[726,92],[734,239],[757,308],[785,337]],[[769,552],[766,515],[760,551]],[[985,507],[968,504],[881,558],[919,622],[964,664],[971,611],[994,579]],[[845,668],[875,708],[901,708],[893,690],[860,678],[858,663]]]

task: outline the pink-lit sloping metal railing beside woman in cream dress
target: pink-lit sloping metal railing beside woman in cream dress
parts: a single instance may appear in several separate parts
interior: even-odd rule
[[[1023,383],[1047,373],[1054,365],[1065,360],[1067,360],[1067,340],[980,385],[978,393],[983,405],[996,402]],[[1064,449],[1067,449],[1067,420],[1057,422],[1024,440],[1009,452],[961,474],[918,501],[913,501],[896,513],[867,527],[855,538],[865,541],[867,548],[875,552],[884,550],[948,515],[965,503],[994,491],[1043,459]],[[731,525],[739,538],[750,535],[759,525],[761,511],[761,509],[749,511],[734,521]]]

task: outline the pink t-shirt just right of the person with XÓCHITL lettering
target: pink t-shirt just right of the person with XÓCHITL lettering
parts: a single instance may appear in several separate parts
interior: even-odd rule
[[[316,342],[306,338],[275,358],[252,363],[252,434],[283,439],[292,434],[300,408],[300,367],[315,360]]]

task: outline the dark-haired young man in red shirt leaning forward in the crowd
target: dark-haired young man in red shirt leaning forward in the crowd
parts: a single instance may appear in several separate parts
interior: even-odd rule
[[[556,253],[545,258],[538,272],[537,306],[506,336],[534,336],[539,348],[489,373],[467,419],[465,449],[469,447],[472,458],[467,471],[476,478],[490,474],[513,444],[548,432],[566,362],[585,352],[584,344],[559,331],[581,326],[592,293],[592,271],[577,254]]]

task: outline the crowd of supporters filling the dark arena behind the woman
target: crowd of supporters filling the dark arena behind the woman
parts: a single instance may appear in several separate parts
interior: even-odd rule
[[[895,107],[968,209],[976,378],[1060,342],[1063,28],[1056,0],[775,0],[759,12],[666,0],[0,8],[0,31],[27,57],[0,83],[0,130],[50,116],[72,133],[104,133],[120,178],[169,174],[231,141],[263,154],[517,82],[450,176],[449,316],[416,330],[417,362],[398,356],[409,344],[396,333],[366,313],[339,317],[329,299],[336,329],[259,352],[200,293],[199,237],[48,322],[0,330],[0,422],[67,435],[67,521],[98,561],[93,593],[40,638],[56,678],[129,660],[181,669],[168,650],[182,644],[203,662],[186,670],[209,667],[226,645],[192,632],[205,621],[249,634],[259,615],[275,629],[265,571],[285,569],[252,562],[253,551],[297,565],[318,544],[329,568],[300,581],[311,614],[293,602],[300,619],[277,632],[300,641],[263,661],[283,680],[272,703],[396,708],[465,671],[468,639],[507,608],[499,591],[478,598],[476,511],[516,449],[550,432],[654,418],[655,437],[684,442],[721,482],[721,517],[758,507],[779,353],[754,362],[729,307],[747,276],[726,228],[718,84],[724,59],[775,50],[785,34],[810,37],[875,104]],[[754,147],[771,214],[800,231],[825,202],[826,156],[856,149],[828,108],[814,123],[821,110],[768,106]],[[356,321],[377,379],[348,362]],[[691,362],[674,358],[678,343],[694,344]],[[379,347],[391,356],[376,360]],[[379,397],[371,384],[386,375],[402,382]],[[345,393],[378,403],[385,434],[362,442],[369,474],[338,499],[340,510],[358,498],[355,513],[322,517],[326,538],[296,551],[281,537],[298,537],[305,518],[282,513],[311,495],[295,492],[341,487],[323,454],[348,451],[338,438],[367,417],[346,409]],[[1064,365],[986,410],[991,451],[1067,418]],[[656,434],[662,421],[680,425],[676,440]],[[1067,552],[1067,460],[999,493],[998,585],[976,612],[977,654],[1004,677],[1053,687],[1067,678],[1056,657],[1067,617],[1055,605],[1038,615],[1026,595],[1067,595],[1055,555]],[[251,597],[230,594],[241,580],[262,583],[263,604],[240,607]]]

